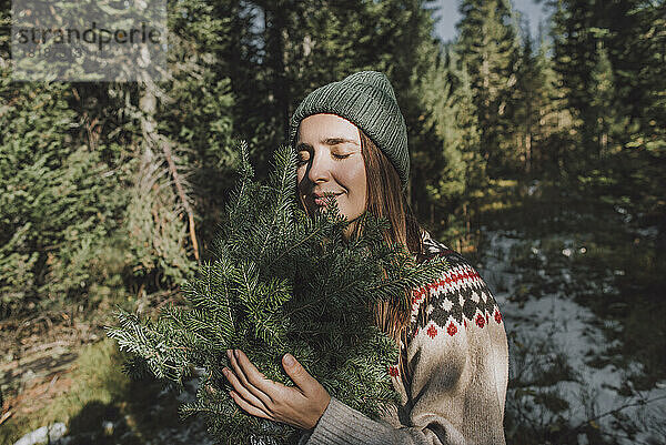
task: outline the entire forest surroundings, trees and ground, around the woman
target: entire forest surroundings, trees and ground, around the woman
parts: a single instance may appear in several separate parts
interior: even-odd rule
[[[196,380],[130,378],[105,327],[186,305],[243,169],[274,181],[300,101],[360,70],[503,310],[506,442],[666,443],[666,2],[534,1],[538,32],[511,0],[167,0],[167,79],[18,82],[0,0],[0,443],[214,443]]]

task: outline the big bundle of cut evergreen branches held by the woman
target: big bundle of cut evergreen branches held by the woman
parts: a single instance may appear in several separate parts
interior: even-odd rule
[[[310,219],[296,201],[296,153],[281,148],[268,184],[253,181],[241,144],[240,180],[225,211],[212,260],[183,291],[186,307],[169,306],[157,321],[119,312],[109,336],[134,354],[131,374],[182,384],[200,373],[196,401],[220,443],[290,443],[295,428],[246,415],[228,395],[225,351],[244,351],[270,380],[293,385],[281,366],[291,353],[329,393],[379,417],[397,403],[387,366],[395,342],[374,326],[373,306],[433,280],[442,259],[421,265],[382,237],[385,221],[364,214],[363,234],[345,241],[349,222],[335,200]]]

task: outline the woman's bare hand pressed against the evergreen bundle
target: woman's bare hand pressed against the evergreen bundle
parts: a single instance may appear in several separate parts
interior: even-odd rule
[[[226,355],[233,371],[225,367],[222,372],[233,386],[230,395],[254,416],[312,429],[331,402],[326,390],[291,354],[284,354],[282,366],[293,387],[266,378],[240,350],[226,351]]]

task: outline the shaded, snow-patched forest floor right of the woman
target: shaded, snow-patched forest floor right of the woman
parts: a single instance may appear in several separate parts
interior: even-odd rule
[[[477,265],[509,336],[507,442],[666,443],[666,277],[649,215],[538,182],[507,186],[483,215]]]

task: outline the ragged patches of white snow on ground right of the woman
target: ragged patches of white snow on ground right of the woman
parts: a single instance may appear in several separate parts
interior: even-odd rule
[[[523,272],[519,269],[512,266],[511,255],[515,254],[516,250],[525,245],[525,239],[516,231],[484,231],[487,239],[486,247],[484,249],[483,266],[480,267],[480,273],[493,291],[497,304],[504,315],[507,334],[513,340],[514,350],[516,342],[529,348],[531,345],[546,345],[547,351],[552,351],[553,356],[533,357],[535,361],[547,362],[556,360],[555,354],[563,352],[566,357],[566,363],[573,371],[575,378],[573,381],[561,381],[552,385],[553,390],[568,403],[568,408],[563,413],[565,418],[568,418],[571,425],[578,425],[596,415],[609,412],[622,407],[629,402],[652,400],[666,396],[666,382],[659,382],[655,388],[649,392],[634,394],[629,397],[620,395],[617,388],[627,382],[629,373],[640,372],[640,364],[634,363],[629,370],[619,370],[612,365],[597,368],[588,364],[591,357],[602,356],[608,346],[609,342],[604,333],[596,327],[594,323],[596,316],[585,306],[582,306],[568,296],[563,287],[558,286],[554,293],[546,293],[541,297],[529,296],[528,299],[512,299],[522,283]],[[575,247],[574,240],[563,239],[565,247],[562,252],[565,256],[571,256],[574,253],[584,254],[584,247]],[[545,253],[538,247],[539,242],[533,243],[531,251],[541,264],[546,263]],[[577,251],[577,252],[576,252]],[[567,255],[568,253],[568,255]],[[532,271],[534,272],[534,271]],[[537,271],[538,276],[548,274],[559,274],[558,280],[564,283],[571,283],[572,276],[576,276],[573,270],[562,267],[558,270]],[[593,289],[599,289],[602,292],[617,292],[606,280],[604,283],[593,283]],[[605,323],[613,325],[616,323],[612,320]],[[615,341],[618,342],[618,341]],[[509,345],[512,346],[512,345]],[[529,350],[527,353],[529,354]],[[539,353],[534,351],[535,353]],[[512,351],[509,351],[512,354]],[[511,357],[511,371],[524,371],[516,363],[515,356]],[[515,375],[509,375],[509,378]],[[525,375],[522,375],[525,377]],[[543,390],[543,386],[541,386]],[[512,396],[509,391],[508,397]],[[535,407],[533,414],[536,416],[548,416],[543,408]],[[628,407],[622,412],[629,416],[645,415],[645,409],[653,409],[658,413],[658,409],[666,409],[666,401],[662,400],[648,404],[647,406]],[[655,411],[656,409],[656,411]],[[662,413],[665,411],[662,411]],[[553,415],[551,413],[551,415]],[[613,416],[604,416],[596,421],[602,428],[613,431],[610,424]],[[653,438],[650,433],[645,431],[637,435],[635,441],[625,441],[623,443],[633,444],[647,442]],[[583,439],[583,438],[581,438]]]

